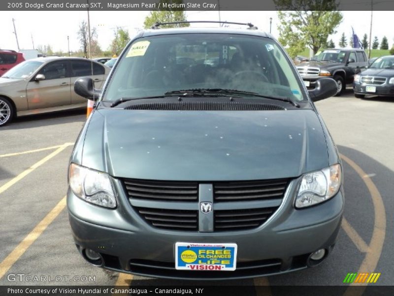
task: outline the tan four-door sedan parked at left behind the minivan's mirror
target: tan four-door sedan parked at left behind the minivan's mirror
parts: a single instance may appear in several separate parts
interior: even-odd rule
[[[101,87],[109,71],[81,58],[47,57],[20,63],[0,77],[0,126],[16,116],[86,108],[86,100],[73,91],[75,80],[88,75]]]

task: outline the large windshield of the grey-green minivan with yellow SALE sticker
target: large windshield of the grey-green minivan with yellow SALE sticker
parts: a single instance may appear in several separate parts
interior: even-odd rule
[[[163,96],[176,90],[231,89],[301,101],[301,87],[272,39],[177,34],[136,39],[119,61],[103,100]]]

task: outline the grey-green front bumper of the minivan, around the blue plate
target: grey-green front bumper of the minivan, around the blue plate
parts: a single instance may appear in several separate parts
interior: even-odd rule
[[[308,267],[311,253],[331,251],[344,207],[343,189],[330,200],[296,210],[298,180],[290,183],[282,205],[262,226],[240,231],[199,233],[158,229],[133,210],[115,182],[118,207],[89,204],[69,189],[67,209],[78,250],[101,254],[101,267],[150,277],[178,279],[234,279],[285,273]],[[235,271],[183,271],[175,269],[175,243],[236,243]],[[327,256],[327,255],[326,255]]]

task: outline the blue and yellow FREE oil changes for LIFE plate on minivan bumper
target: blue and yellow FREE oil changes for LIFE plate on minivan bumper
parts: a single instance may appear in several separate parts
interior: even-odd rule
[[[182,270],[235,270],[236,244],[175,244],[175,268]]]

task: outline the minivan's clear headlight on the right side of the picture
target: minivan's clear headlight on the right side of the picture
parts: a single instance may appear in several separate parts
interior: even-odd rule
[[[296,197],[296,208],[309,207],[328,200],[338,192],[341,178],[339,164],[303,175]]]

